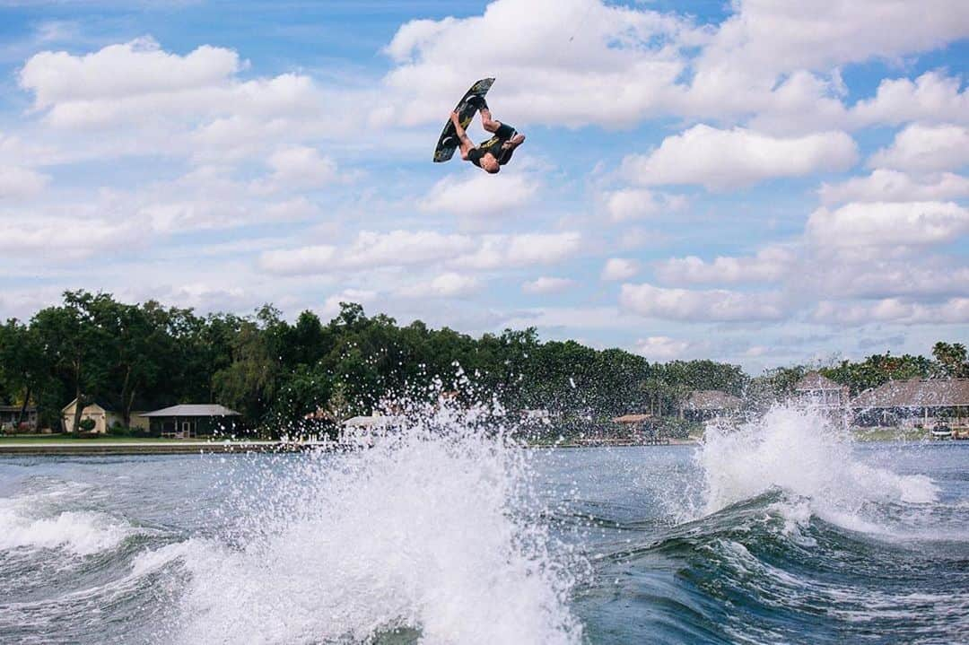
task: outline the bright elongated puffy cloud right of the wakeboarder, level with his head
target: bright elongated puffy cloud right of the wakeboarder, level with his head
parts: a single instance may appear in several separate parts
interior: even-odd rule
[[[771,177],[794,177],[855,165],[858,149],[843,132],[776,138],[734,128],[697,125],[668,137],[647,155],[630,155],[623,170],[646,185],[702,184],[728,190]]]

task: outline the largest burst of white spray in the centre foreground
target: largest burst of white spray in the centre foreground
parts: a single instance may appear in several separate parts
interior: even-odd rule
[[[579,642],[569,556],[530,505],[527,456],[445,416],[237,480],[232,535],[181,556],[181,641],[369,642],[406,628],[427,645]]]

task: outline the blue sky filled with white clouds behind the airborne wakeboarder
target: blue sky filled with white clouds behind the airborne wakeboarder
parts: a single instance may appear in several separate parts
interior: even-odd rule
[[[755,372],[965,342],[967,37],[943,0],[0,0],[0,316],[351,300]],[[485,76],[515,161],[431,164]]]

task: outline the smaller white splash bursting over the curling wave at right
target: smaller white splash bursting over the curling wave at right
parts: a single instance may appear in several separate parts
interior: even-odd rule
[[[800,498],[810,513],[839,526],[884,533],[867,507],[935,502],[938,489],[926,476],[903,476],[862,463],[845,431],[814,410],[777,407],[738,429],[711,427],[697,452],[708,514],[772,489]],[[788,529],[809,514],[783,512]]]

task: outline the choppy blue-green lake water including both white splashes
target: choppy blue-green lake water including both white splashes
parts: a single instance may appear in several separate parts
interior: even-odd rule
[[[969,642],[969,445],[0,458],[3,643]]]

